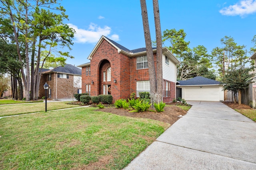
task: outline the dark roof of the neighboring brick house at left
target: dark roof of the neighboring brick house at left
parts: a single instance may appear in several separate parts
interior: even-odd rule
[[[82,70],[76,66],[73,66],[72,64],[66,64],[64,66],[58,66],[56,68],[53,68],[51,70],[42,72],[43,74],[51,73],[51,72],[58,72],[58,73],[68,73],[68,74],[76,74],[76,75],[82,75]]]

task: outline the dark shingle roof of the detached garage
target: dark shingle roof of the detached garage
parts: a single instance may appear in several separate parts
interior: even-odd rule
[[[212,80],[210,78],[201,77],[201,76],[197,76],[188,80],[179,81],[180,86],[210,85],[210,84],[220,84],[220,82],[216,80]]]

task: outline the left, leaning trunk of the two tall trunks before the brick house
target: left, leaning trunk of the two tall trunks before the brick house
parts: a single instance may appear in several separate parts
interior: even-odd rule
[[[146,52],[148,59],[148,71],[149,71],[149,81],[150,81],[150,98],[151,103],[156,101],[156,69],[154,66],[154,55],[152,50],[150,29],[148,23],[148,11],[146,6],[146,0],[140,0],[141,12],[142,12],[142,22],[144,29],[144,37],[146,43]],[[152,104],[151,106],[154,107]]]

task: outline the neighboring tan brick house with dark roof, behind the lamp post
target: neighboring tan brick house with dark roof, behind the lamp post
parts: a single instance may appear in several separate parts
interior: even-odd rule
[[[45,82],[49,85],[48,98],[52,100],[72,98],[74,94],[82,93],[82,70],[72,64],[51,70],[42,69],[39,98],[45,96]]]

